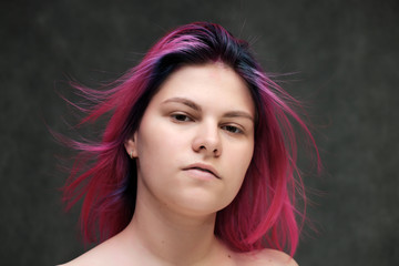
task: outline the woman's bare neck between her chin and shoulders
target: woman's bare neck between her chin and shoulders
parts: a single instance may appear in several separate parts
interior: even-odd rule
[[[166,265],[208,264],[216,254],[226,253],[214,235],[215,213],[182,215],[156,206],[145,196],[137,198],[125,236],[133,249],[145,253],[151,260]]]

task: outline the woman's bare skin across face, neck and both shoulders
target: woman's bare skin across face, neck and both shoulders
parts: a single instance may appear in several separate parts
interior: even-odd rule
[[[173,73],[125,143],[137,164],[131,223],[65,265],[297,265],[273,249],[234,253],[214,235],[252,158],[253,117],[246,84],[223,63]]]

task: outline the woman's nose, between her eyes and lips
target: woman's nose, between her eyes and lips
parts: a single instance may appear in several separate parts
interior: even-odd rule
[[[203,122],[197,126],[193,140],[193,150],[206,156],[218,157],[222,154],[222,143],[218,125],[212,122]]]

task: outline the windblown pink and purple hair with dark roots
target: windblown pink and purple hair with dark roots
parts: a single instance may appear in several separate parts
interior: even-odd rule
[[[112,237],[134,215],[136,165],[124,142],[137,130],[162,82],[181,65],[215,61],[229,65],[245,80],[256,106],[254,155],[237,196],[216,215],[215,235],[236,252],[269,247],[294,255],[305,218],[296,198],[306,197],[290,121],[304,130],[313,145],[314,139],[288,104],[298,102],[266,76],[247,42],[207,22],[167,33],[139,65],[103,90],[72,82],[93,103],[89,109],[80,108],[86,112],[81,124],[112,113],[101,142],[70,142],[80,152],[63,187],[63,200],[70,208],[83,198],[81,227],[86,242]]]

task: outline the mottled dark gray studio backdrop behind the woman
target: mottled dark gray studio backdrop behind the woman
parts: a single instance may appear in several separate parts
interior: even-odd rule
[[[2,1],[2,265],[54,265],[83,252],[65,214],[55,143],[68,133],[64,74],[93,84],[134,65],[166,30],[207,20],[253,43],[268,72],[304,100],[325,171],[299,265],[398,265],[398,1]],[[72,96],[73,98],[73,96]],[[70,120],[69,120],[70,121]]]

